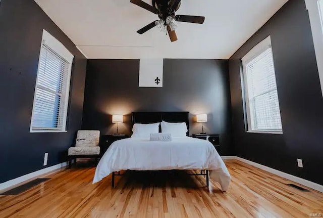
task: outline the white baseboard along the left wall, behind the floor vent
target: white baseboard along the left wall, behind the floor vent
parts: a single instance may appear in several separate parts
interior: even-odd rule
[[[67,162],[63,162],[63,163],[59,163],[59,164],[56,164],[56,165],[53,165],[53,166],[49,166],[49,167],[46,167],[46,168],[43,168],[43,169],[40,169],[40,170],[37,170],[37,171],[34,171],[34,172],[31,172],[31,173],[28,173],[24,176],[21,176],[21,177],[18,177],[16,179],[13,179],[13,180],[9,180],[7,182],[4,182],[4,183],[1,183],[0,184],[0,193],[3,192],[5,189],[8,189],[10,187],[14,187],[20,183],[23,183],[23,182],[26,182],[27,180],[30,180],[32,178],[35,178],[35,177],[39,177],[41,175],[44,175],[50,171],[54,171],[54,170],[57,170],[57,169],[61,169],[65,166],[67,166]]]

